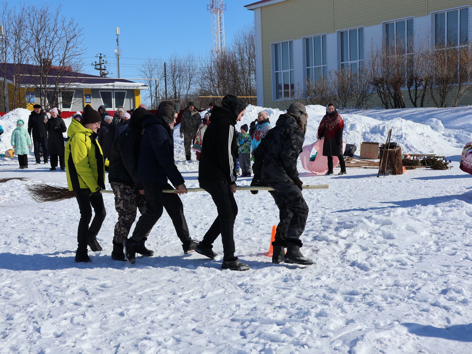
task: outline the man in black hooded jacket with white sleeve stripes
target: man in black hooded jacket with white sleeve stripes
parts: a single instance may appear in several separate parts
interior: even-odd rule
[[[211,124],[205,131],[198,166],[200,186],[210,193],[218,216],[203,236],[202,242],[195,248],[195,252],[214,259],[217,254],[212,251],[213,242],[221,234],[224,253],[222,269],[249,269],[247,264],[241,263],[235,257],[233,235],[237,215],[234,197],[237,156],[235,125],[243,117],[245,109],[244,101],[233,95],[226,95],[221,101],[221,107],[213,107]]]

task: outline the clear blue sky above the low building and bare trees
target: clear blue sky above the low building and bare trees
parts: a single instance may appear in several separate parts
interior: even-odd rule
[[[254,12],[244,8],[251,2],[254,1],[226,1],[227,43],[238,28],[253,22]],[[136,68],[143,62],[142,58],[167,59],[174,51],[183,54],[211,50],[211,13],[207,11],[207,3],[208,0],[67,0],[63,2],[62,12],[74,16],[84,29],[84,44],[88,48],[84,72],[98,75],[90,64],[96,54],[103,53],[110,62],[108,70],[113,73],[110,77],[117,77],[115,27],[120,27],[121,77],[138,77]]]

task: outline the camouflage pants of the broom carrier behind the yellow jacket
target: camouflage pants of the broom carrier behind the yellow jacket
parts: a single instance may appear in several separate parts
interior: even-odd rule
[[[135,222],[136,210],[141,214],[146,209],[146,197],[130,185],[118,182],[110,182],[111,189],[115,194],[115,209],[118,212],[118,222],[115,224],[115,235],[113,241],[122,243],[128,238],[129,230]],[[149,236],[149,230],[145,237]]]

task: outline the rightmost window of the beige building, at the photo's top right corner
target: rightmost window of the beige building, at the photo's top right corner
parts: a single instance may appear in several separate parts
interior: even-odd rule
[[[434,44],[437,48],[454,48],[469,40],[469,8],[434,14]]]

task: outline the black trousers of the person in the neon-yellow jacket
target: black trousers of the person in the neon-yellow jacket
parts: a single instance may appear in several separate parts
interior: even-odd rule
[[[77,203],[80,210],[79,228],[77,230],[77,244],[78,248],[87,248],[87,238],[89,236],[97,236],[101,224],[107,212],[105,211],[105,204],[103,204],[102,195],[92,195],[88,188],[80,188],[74,191],[76,194]],[[92,220],[92,208],[95,216]],[[89,227],[90,220],[92,224]]]

